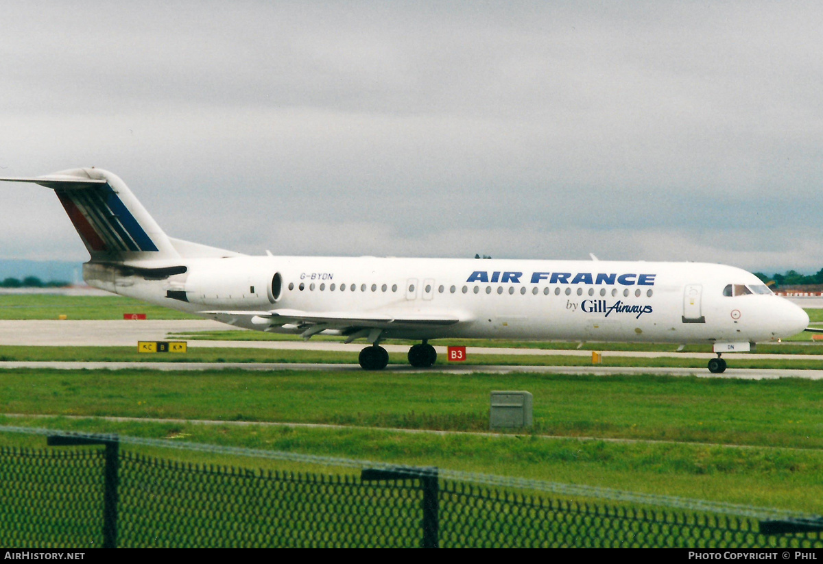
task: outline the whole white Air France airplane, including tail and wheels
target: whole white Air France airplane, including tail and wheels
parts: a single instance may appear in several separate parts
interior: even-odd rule
[[[755,275],[695,262],[249,257],[168,237],[125,183],[102,169],[39,178],[57,193],[91,255],[95,288],[257,331],[365,339],[360,366],[380,370],[388,338],[466,337],[712,344],[751,350],[807,328],[806,312]]]

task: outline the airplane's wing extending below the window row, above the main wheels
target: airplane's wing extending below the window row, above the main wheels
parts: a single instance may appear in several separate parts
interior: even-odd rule
[[[215,316],[219,321],[249,318],[253,325],[291,325],[297,330],[303,330],[300,335],[306,339],[327,329],[339,331],[340,334],[349,335],[351,338],[351,335],[365,336],[361,335],[364,331],[426,326],[443,327],[461,321],[457,316],[452,315],[303,312],[296,309],[277,309],[272,312],[208,311],[200,313]]]

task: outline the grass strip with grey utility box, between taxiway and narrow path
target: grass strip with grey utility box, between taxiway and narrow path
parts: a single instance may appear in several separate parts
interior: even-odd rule
[[[483,431],[489,391],[535,395],[534,432],[823,449],[823,382],[238,370],[7,370],[2,413]],[[597,405],[597,409],[592,409]]]

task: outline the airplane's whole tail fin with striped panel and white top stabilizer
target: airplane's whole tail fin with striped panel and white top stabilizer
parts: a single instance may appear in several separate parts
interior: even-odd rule
[[[0,178],[52,188],[95,262],[176,259],[180,253],[117,175],[71,169],[38,178]]]

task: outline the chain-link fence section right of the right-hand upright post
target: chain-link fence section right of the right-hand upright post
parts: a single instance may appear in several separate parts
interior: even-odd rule
[[[446,483],[441,502],[444,547],[823,547],[820,533],[761,534],[760,521],[746,517],[528,497],[461,483]]]

